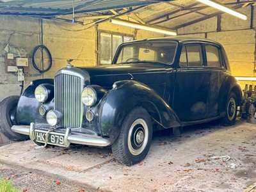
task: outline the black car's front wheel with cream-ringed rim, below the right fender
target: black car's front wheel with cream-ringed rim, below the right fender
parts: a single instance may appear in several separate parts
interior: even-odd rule
[[[125,117],[120,134],[111,146],[116,160],[132,165],[148,154],[152,141],[152,122],[144,108],[134,108]]]

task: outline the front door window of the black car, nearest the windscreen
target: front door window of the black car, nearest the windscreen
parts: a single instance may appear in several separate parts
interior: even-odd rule
[[[180,67],[201,67],[203,65],[202,46],[186,44],[180,54]]]

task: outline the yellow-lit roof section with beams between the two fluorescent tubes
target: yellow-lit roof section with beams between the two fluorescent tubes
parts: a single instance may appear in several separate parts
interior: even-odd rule
[[[220,3],[236,2],[232,0],[222,0]],[[241,4],[228,4],[227,6],[232,8],[234,6],[241,6]],[[182,24],[207,19],[221,12],[216,8],[209,7],[195,0],[179,0],[145,6],[136,13],[140,15],[140,18],[147,24],[175,29]]]

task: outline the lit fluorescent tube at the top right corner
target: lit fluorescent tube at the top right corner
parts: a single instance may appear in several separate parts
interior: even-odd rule
[[[240,19],[243,19],[243,20],[246,20],[247,19],[247,16],[246,15],[243,15],[242,13],[239,13],[237,12],[236,10],[232,9],[232,8],[228,8],[227,6],[221,4],[221,3],[218,3],[217,1],[214,1],[214,0],[197,0],[201,3],[204,3],[204,4],[207,4],[209,6],[212,6],[218,10],[221,10],[222,12],[226,12],[226,13],[229,13],[231,15],[234,15],[236,17],[239,17]]]

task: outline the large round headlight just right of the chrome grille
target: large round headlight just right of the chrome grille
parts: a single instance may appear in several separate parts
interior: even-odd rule
[[[91,86],[88,86],[84,88],[81,99],[84,105],[93,106],[97,101],[97,93]]]

